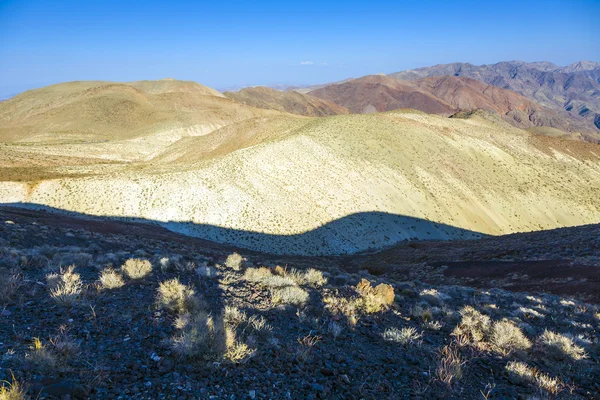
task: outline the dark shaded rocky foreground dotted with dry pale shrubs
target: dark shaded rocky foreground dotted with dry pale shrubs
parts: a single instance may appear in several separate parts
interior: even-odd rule
[[[288,258],[0,208],[0,399],[600,398],[599,233]]]

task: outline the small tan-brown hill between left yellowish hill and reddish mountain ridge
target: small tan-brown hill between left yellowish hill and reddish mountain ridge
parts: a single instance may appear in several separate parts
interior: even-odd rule
[[[264,86],[225,92],[225,96],[252,107],[277,110],[308,117],[348,114],[348,110],[333,102],[325,101],[295,91],[279,91]]]

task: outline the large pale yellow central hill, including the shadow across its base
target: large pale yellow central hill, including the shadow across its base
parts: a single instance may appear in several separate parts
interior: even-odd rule
[[[254,118],[143,163],[60,172],[69,176],[0,184],[0,202],[296,254],[600,222],[600,146],[476,115]]]

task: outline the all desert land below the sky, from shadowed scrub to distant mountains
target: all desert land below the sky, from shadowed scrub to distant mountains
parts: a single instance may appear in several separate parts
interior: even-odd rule
[[[1,102],[0,400],[599,399],[596,66],[461,65]]]

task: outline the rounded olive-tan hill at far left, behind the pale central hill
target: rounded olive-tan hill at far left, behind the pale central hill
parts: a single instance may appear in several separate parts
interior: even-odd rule
[[[54,156],[85,150],[90,158],[128,161],[151,157],[182,137],[275,114],[195,82],[69,82],[0,103],[0,142],[52,145],[47,150]]]

